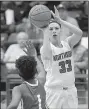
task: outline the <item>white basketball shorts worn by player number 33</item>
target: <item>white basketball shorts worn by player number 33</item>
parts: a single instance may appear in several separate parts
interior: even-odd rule
[[[50,89],[46,90],[46,103],[49,109],[77,109],[78,97],[77,89],[75,86],[67,90]]]

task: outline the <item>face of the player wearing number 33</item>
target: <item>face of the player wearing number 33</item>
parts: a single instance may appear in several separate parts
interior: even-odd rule
[[[60,25],[56,22],[50,23],[49,24],[49,31],[50,31],[50,40],[51,41],[56,41],[58,40],[60,36]]]

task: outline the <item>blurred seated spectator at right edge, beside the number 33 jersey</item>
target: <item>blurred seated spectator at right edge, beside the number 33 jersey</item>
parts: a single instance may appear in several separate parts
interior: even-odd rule
[[[81,41],[73,48],[75,73],[82,73],[88,69],[88,49],[81,45]]]

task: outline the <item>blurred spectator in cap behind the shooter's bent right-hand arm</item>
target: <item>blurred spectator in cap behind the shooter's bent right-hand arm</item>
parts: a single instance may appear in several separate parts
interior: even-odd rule
[[[57,6],[57,9],[59,11],[59,15],[61,17],[61,19],[71,23],[71,24],[74,24],[75,26],[79,27],[78,26],[78,22],[75,18],[72,18],[71,16],[69,16],[68,14],[68,11],[67,11],[67,8],[63,5],[63,4],[59,4]],[[68,36],[71,36],[71,31],[62,26],[62,30],[61,30],[61,40],[65,40]]]

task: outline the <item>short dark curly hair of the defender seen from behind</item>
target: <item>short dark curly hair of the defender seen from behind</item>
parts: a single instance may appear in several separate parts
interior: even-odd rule
[[[37,61],[33,56],[21,56],[16,60],[15,65],[24,80],[33,79],[37,73]]]

